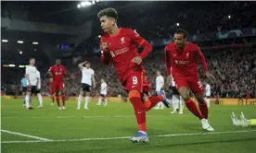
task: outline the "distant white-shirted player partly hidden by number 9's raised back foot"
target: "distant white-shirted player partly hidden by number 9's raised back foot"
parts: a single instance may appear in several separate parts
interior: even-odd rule
[[[160,71],[157,71],[157,77],[156,77],[156,95],[160,95],[160,91],[163,91],[164,87],[164,78],[160,75]],[[163,91],[164,92],[164,91]],[[156,110],[163,109],[164,105],[162,101],[160,101],[157,106],[155,107]]]

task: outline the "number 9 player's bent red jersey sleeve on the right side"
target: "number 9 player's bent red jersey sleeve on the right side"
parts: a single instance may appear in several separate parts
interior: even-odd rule
[[[127,34],[130,37],[132,41],[134,41],[134,44],[139,45],[143,47],[142,53],[140,53],[140,56],[142,59],[146,58],[147,55],[152,51],[152,45],[148,43],[144,38],[142,38],[135,30],[128,29]]]

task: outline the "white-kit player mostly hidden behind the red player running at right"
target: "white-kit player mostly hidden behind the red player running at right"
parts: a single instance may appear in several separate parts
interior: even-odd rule
[[[171,112],[171,113],[177,113],[179,110],[179,114],[183,114],[184,101],[176,88],[176,83],[174,82],[172,75],[171,75],[171,89],[173,92],[173,100],[172,100],[173,101],[173,112]]]

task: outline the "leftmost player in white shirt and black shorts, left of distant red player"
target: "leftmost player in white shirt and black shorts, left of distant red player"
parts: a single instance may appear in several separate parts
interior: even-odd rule
[[[30,65],[26,67],[26,78],[27,78],[27,93],[25,97],[26,101],[26,109],[31,110],[32,106],[30,105],[30,100],[32,94],[36,94],[36,86],[37,86],[37,69],[34,66],[35,64],[35,59],[31,58],[30,59]]]

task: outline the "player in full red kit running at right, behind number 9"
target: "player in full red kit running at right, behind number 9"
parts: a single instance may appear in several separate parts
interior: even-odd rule
[[[201,53],[198,45],[186,41],[186,31],[184,29],[177,29],[174,33],[174,41],[165,47],[165,62],[167,73],[169,74],[168,82],[171,82],[172,74],[176,87],[185,100],[188,110],[200,119],[203,129],[214,131],[207,120],[208,108],[203,98],[204,89],[198,76],[198,62],[202,65],[206,76],[212,82],[215,78],[208,72],[204,55]],[[189,88],[199,102],[198,107],[191,100]]]

